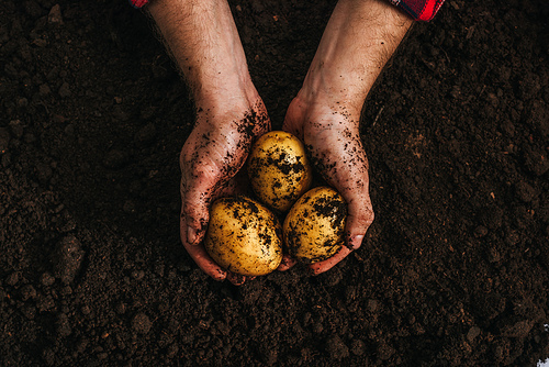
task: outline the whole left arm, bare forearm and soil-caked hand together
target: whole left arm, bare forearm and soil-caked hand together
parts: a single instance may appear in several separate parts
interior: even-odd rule
[[[148,12],[177,62],[197,105],[197,125],[181,151],[181,241],[217,280],[242,283],[204,251],[209,205],[234,192],[234,178],[254,138],[270,127],[251,82],[231,8],[217,0],[155,0]]]

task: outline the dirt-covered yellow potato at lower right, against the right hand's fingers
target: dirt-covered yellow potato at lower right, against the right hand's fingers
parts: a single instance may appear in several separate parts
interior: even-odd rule
[[[333,256],[345,243],[347,203],[329,187],[317,187],[293,204],[283,225],[290,256],[313,264]]]

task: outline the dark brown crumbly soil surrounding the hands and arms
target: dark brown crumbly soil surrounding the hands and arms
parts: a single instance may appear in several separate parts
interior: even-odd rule
[[[335,1],[232,1],[274,127]],[[194,112],[124,0],[0,3],[0,365],[534,366],[549,357],[549,5],[449,0],[365,103],[359,251],[242,287],[179,243]]]

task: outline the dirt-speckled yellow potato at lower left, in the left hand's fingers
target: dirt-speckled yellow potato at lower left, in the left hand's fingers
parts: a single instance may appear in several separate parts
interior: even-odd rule
[[[245,276],[273,271],[282,260],[277,216],[244,196],[216,200],[210,210],[204,247],[221,267]]]

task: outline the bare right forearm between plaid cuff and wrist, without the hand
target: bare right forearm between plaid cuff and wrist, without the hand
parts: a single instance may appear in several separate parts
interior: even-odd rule
[[[413,20],[385,0],[340,0],[326,25],[300,98],[325,96],[355,114]],[[335,105],[333,105],[335,108]]]

